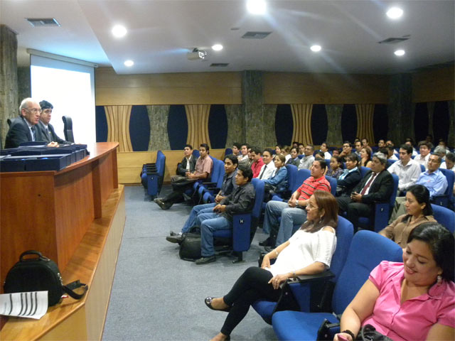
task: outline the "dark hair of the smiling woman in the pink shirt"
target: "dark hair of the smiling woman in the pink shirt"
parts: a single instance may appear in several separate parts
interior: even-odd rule
[[[424,222],[412,230],[407,244],[414,239],[427,243],[434,261],[442,269],[442,278],[454,281],[454,235],[437,222]]]

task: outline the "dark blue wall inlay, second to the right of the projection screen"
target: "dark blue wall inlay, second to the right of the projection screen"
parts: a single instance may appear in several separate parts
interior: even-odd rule
[[[129,139],[133,151],[147,151],[150,140],[149,113],[145,105],[133,105],[129,117]]]

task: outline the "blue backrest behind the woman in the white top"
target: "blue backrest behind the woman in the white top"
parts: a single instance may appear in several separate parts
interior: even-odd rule
[[[343,270],[343,266],[348,258],[350,243],[353,240],[354,227],[346,218],[338,215],[338,225],[336,226],[336,249],[330,264],[330,271],[335,275],[333,281],[338,281],[338,277]]]

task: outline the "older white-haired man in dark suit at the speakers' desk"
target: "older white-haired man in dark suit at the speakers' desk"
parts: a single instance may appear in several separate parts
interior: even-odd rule
[[[40,120],[41,107],[34,99],[26,98],[19,107],[19,117],[11,121],[6,134],[5,148],[16,148],[23,142],[42,141],[36,124]]]

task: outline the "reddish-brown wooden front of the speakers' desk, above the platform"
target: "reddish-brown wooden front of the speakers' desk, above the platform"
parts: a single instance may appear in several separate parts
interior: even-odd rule
[[[28,249],[41,251],[64,271],[118,187],[117,146],[98,143],[90,156],[62,171],[0,173],[0,283]]]

